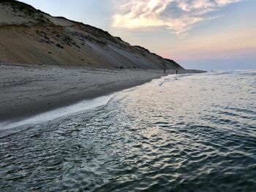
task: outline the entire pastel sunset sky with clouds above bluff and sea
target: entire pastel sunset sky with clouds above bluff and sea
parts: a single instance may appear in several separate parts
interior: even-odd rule
[[[256,69],[255,0],[22,0],[187,69]]]

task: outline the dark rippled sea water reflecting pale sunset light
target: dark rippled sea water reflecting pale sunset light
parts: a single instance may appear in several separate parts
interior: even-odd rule
[[[256,191],[256,72],[169,75],[0,139],[0,191]]]

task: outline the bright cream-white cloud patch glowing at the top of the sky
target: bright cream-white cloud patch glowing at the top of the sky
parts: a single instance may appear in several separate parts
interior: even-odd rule
[[[208,16],[221,7],[243,0],[113,0],[115,28],[165,27],[186,34],[192,26],[216,17]]]

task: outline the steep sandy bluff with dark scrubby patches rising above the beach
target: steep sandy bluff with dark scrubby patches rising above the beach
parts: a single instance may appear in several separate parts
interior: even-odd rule
[[[107,31],[52,17],[19,1],[0,1],[0,62],[183,69],[175,61]]]

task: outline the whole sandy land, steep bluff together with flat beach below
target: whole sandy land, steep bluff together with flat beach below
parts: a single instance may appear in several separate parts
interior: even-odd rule
[[[140,85],[163,69],[184,69],[108,31],[19,1],[0,3],[0,31],[0,121]]]

